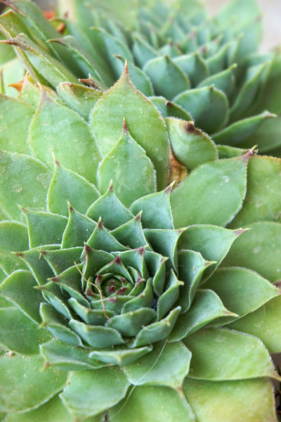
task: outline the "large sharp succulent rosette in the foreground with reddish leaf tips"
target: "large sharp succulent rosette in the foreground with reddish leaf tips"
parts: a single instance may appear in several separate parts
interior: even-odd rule
[[[0,420],[277,421],[281,160],[160,113],[128,66],[77,83],[13,7],[30,75],[0,96]]]

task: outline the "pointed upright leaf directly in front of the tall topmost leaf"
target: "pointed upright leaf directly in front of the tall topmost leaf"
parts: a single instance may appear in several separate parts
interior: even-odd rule
[[[124,122],[124,131],[98,168],[101,193],[113,181],[117,198],[125,206],[142,196],[155,192],[155,170],[145,150],[131,137]]]

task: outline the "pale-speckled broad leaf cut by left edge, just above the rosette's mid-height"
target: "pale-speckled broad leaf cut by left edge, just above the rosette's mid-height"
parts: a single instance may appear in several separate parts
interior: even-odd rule
[[[28,155],[1,151],[0,172],[0,203],[9,217],[20,219],[17,204],[45,209],[51,174],[43,163]]]

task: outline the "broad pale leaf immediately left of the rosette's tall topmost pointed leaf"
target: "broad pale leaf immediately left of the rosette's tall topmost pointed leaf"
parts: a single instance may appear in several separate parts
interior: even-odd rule
[[[100,153],[88,125],[70,108],[60,106],[45,91],[41,92],[29,132],[34,155],[53,167],[54,153],[62,165],[95,183]]]

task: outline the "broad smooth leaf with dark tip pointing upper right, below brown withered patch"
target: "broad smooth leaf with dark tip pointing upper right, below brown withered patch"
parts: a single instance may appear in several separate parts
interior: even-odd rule
[[[204,164],[186,177],[171,193],[175,226],[204,223],[224,226],[233,219],[246,193],[249,155],[251,152]]]

